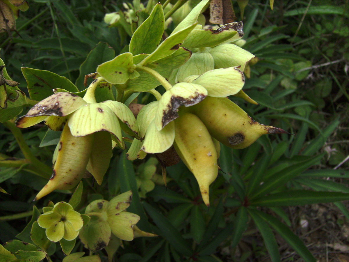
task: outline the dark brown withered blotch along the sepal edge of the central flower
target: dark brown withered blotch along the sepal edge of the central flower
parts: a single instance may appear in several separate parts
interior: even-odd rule
[[[193,96],[184,98],[181,96],[172,96],[170,104],[167,105],[167,110],[163,112],[162,116],[162,127],[170,123],[172,120],[178,117],[177,109],[184,105],[185,107],[190,107],[191,105],[201,102],[206,95],[201,93],[194,93]]]

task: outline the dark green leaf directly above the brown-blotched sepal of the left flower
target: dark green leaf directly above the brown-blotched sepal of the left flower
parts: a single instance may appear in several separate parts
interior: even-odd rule
[[[78,92],[77,87],[66,77],[46,70],[22,67],[22,74],[27,81],[30,98],[43,100],[53,94],[52,89],[64,88],[68,92]]]

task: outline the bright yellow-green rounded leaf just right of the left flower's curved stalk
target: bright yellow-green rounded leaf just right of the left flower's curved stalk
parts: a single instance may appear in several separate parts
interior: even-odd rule
[[[119,54],[97,67],[97,73],[113,85],[124,84],[128,79],[139,77],[139,73],[133,70],[132,53]]]

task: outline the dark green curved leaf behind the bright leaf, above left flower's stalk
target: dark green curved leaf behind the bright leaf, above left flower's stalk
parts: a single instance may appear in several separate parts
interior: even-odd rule
[[[87,74],[96,72],[98,65],[109,61],[115,57],[115,51],[110,45],[99,42],[87,55],[86,60],[80,66],[79,77],[75,81],[75,85],[79,90],[84,89],[84,77]]]

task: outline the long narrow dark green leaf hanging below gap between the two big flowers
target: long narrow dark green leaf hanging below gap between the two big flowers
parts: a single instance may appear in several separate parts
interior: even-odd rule
[[[141,230],[151,231],[148,218],[144,212],[139,194],[138,187],[134,172],[134,167],[131,161],[126,159],[126,152],[121,153],[120,159],[118,162],[118,177],[120,181],[121,192],[132,191],[132,203],[127,209],[127,211],[138,214],[141,220],[137,224]]]

